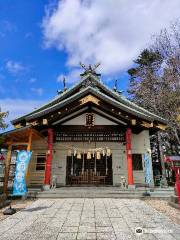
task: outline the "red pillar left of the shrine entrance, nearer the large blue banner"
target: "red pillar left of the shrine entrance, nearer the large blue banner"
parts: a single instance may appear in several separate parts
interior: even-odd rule
[[[45,185],[50,185],[51,183],[52,147],[53,147],[53,130],[51,128],[48,128],[48,153],[46,157],[46,169],[44,178]]]

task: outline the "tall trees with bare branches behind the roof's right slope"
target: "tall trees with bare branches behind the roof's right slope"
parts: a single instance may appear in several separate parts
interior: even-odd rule
[[[168,122],[170,139],[180,145],[180,22],[162,29],[134,61],[130,98]]]

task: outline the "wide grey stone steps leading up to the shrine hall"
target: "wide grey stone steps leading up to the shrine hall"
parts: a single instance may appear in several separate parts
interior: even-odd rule
[[[143,199],[145,188],[121,190],[119,187],[61,187],[49,191],[29,189],[28,197],[32,198],[138,198]],[[149,189],[150,198],[169,199],[174,194],[174,189],[152,188]],[[149,197],[148,197],[149,198]]]

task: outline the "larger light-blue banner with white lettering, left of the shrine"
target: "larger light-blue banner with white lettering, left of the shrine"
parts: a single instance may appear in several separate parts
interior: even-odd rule
[[[31,151],[19,151],[16,159],[16,172],[14,177],[13,195],[22,196],[27,192],[26,170],[31,158]]]

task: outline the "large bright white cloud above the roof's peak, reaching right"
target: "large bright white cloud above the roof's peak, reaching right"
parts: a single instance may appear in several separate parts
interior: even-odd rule
[[[64,0],[47,8],[46,47],[68,53],[67,65],[101,62],[112,75],[132,65],[151,35],[180,16],[179,0]]]

